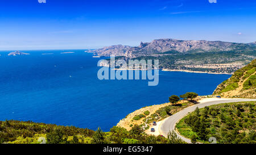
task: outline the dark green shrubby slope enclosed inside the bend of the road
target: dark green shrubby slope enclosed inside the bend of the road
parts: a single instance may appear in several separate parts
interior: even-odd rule
[[[256,143],[256,102],[225,103],[197,108],[177,123],[179,133],[193,142]]]

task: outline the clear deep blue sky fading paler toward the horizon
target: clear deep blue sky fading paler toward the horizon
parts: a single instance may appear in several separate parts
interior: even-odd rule
[[[173,38],[256,41],[255,0],[1,0],[0,51]]]

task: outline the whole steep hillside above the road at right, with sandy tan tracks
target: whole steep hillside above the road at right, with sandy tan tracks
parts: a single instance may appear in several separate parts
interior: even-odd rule
[[[213,95],[228,98],[256,98],[256,59],[222,82]]]

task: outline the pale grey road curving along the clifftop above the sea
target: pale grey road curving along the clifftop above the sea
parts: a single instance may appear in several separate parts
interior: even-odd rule
[[[177,122],[179,122],[180,119],[184,118],[188,114],[188,112],[193,112],[196,110],[196,107],[203,108],[205,106],[212,106],[214,104],[221,104],[221,103],[232,103],[232,102],[246,102],[246,101],[256,101],[256,99],[216,99],[212,101],[202,102],[195,104],[193,106],[184,108],[184,110],[181,110],[177,112],[174,115],[171,115],[170,117],[166,118],[162,125],[160,126],[160,132],[163,133],[165,137],[167,137],[167,134],[169,131],[174,130],[175,131],[175,125]],[[187,143],[191,143],[189,139],[186,139],[185,137],[179,135],[177,133],[177,136],[180,137],[180,139],[184,140]]]

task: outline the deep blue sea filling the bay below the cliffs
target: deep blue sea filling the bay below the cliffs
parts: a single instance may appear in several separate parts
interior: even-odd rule
[[[109,131],[141,107],[166,103],[170,95],[188,91],[212,94],[230,77],[159,71],[158,86],[148,86],[148,80],[100,80],[97,62],[102,58],[84,51],[21,51],[30,53],[22,56],[7,56],[14,51],[0,52],[0,120]]]

